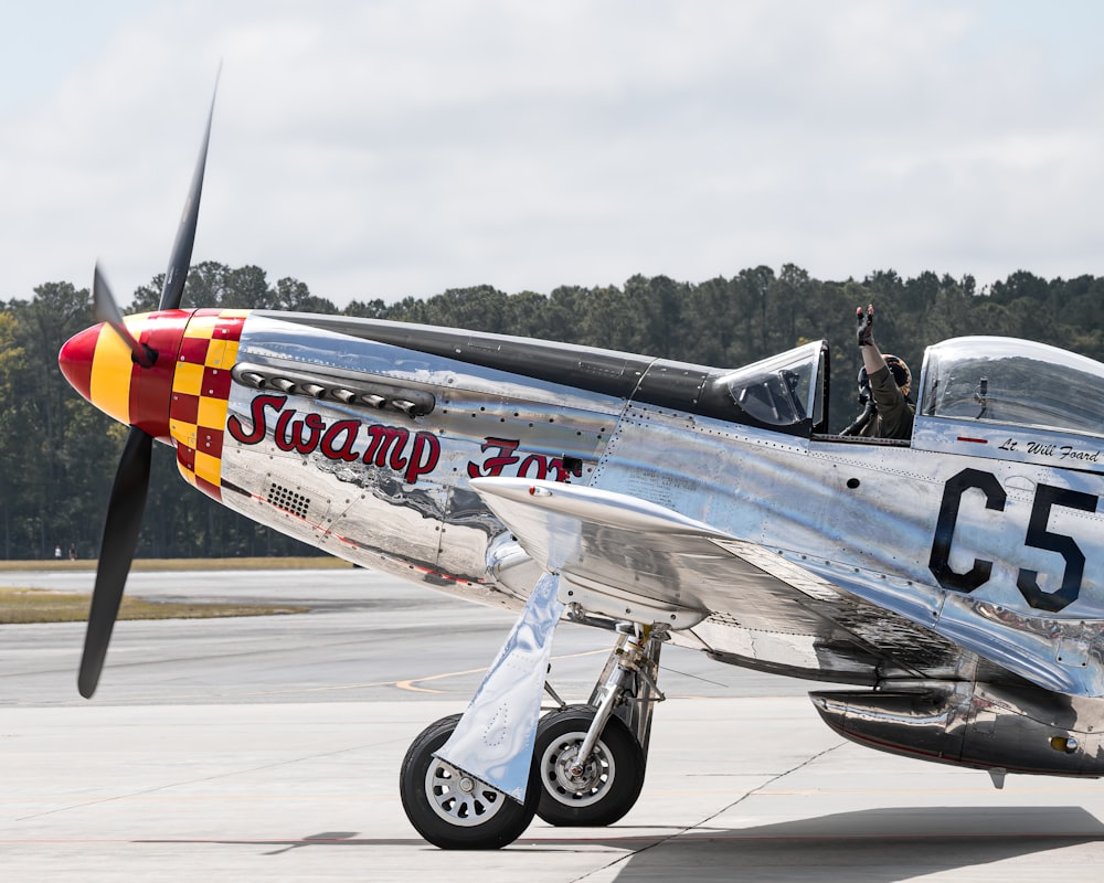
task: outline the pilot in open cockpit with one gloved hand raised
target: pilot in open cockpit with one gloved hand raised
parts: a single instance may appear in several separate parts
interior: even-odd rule
[[[910,438],[915,411],[909,402],[912,372],[903,359],[882,355],[874,343],[874,307],[862,307],[856,311],[858,329],[856,337],[862,353],[862,370],[859,371],[860,398],[864,393],[867,408],[843,435],[859,435],[864,438]],[[863,389],[866,387],[866,389]]]

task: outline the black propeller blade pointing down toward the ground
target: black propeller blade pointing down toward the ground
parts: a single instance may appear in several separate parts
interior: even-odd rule
[[[88,630],[84,638],[81,673],[77,687],[81,695],[91,699],[99,682],[99,672],[107,657],[107,645],[123,603],[123,588],[130,573],[130,562],[138,546],[141,517],[149,489],[149,465],[153,453],[153,436],[132,426],[115,474],[112,499],[104,521],[104,539],[99,544],[96,586],[88,613]]]

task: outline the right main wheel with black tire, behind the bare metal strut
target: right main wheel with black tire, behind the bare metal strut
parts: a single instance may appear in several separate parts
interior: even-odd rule
[[[569,705],[544,715],[537,727],[537,815],[549,825],[613,825],[640,796],[644,749],[619,717],[606,722],[586,763],[576,764],[594,714],[590,705]]]

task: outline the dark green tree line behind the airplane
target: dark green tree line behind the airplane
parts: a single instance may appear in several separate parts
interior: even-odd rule
[[[135,291],[127,312],[155,309],[163,279]],[[973,277],[893,270],[861,281],[822,281],[787,264],[700,283],[633,276],[623,285],[562,286],[549,295],[491,286],[449,289],[394,304],[354,300],[339,310],[291,278],[269,283],[255,266],[192,267],[187,308],[343,312],[545,338],[683,362],[735,368],[827,339],[832,344],[831,426],[857,408],[854,309],[873,302],[877,338],[919,379],[924,348],[962,334],[1052,343],[1104,361],[1104,277],[1043,279],[1017,272],[985,290]],[[0,300],[0,557],[96,554],[126,428],[84,402],[57,369],[62,343],[94,322],[91,295],[71,283]],[[155,446],[138,555],[190,557],[308,554],[187,488],[172,450]]]

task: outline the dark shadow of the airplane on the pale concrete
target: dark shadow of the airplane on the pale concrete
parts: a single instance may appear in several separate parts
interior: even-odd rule
[[[572,829],[577,832],[580,829]],[[560,836],[535,829],[512,850],[555,853],[604,847],[629,853],[619,883],[671,879],[692,871],[697,880],[911,880],[1021,855],[1104,841],[1104,823],[1082,807],[917,807],[867,809],[752,828],[683,829],[634,834],[630,826],[593,837]],[[567,829],[563,829],[566,834]],[[164,842],[138,840],[136,843]],[[179,843],[181,841],[172,841]],[[335,847],[424,847],[420,838],[362,838],[327,831],[299,840],[194,841],[266,847],[278,855],[297,849]],[[714,873],[715,872],[715,876]]]

